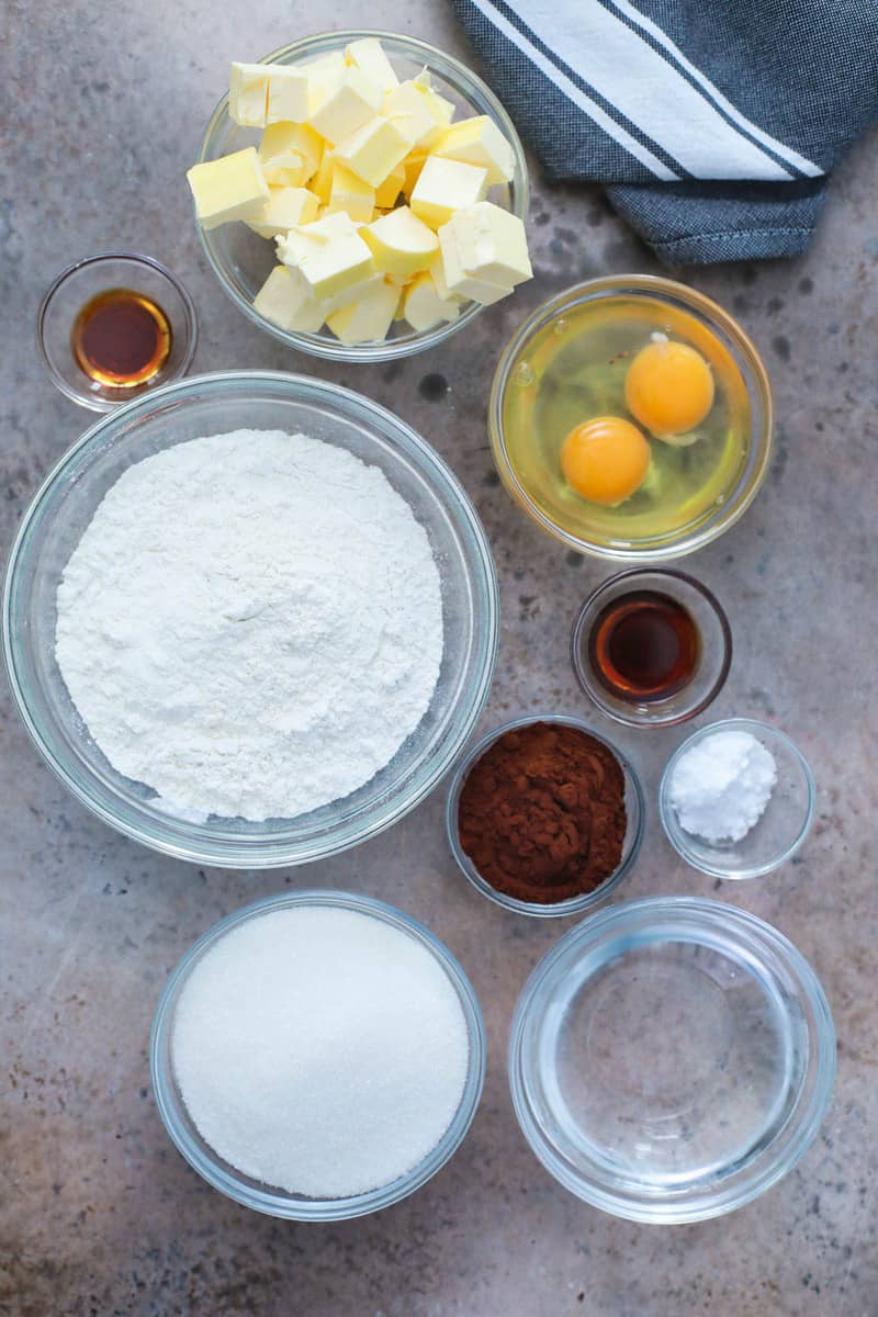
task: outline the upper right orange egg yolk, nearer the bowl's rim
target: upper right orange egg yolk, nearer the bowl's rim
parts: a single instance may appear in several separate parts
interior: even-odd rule
[[[625,404],[659,439],[684,433],[713,406],[711,367],[688,344],[656,340],[628,367]]]

